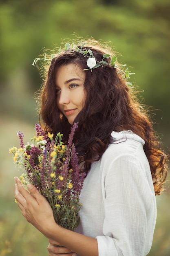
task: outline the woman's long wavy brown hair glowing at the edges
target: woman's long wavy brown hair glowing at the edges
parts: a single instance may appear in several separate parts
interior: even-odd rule
[[[82,49],[91,49],[97,61],[102,61],[103,54],[115,56],[115,52],[106,43],[93,39],[84,40]],[[81,47],[82,41],[77,45]],[[74,63],[82,70],[87,68],[87,58],[75,49],[62,50],[55,54],[49,66],[44,67],[44,82],[40,90],[38,102],[40,105],[40,122],[46,131],[63,133],[64,141],[68,139],[71,125],[57,108],[55,74],[59,67]],[[110,58],[104,59],[110,62]],[[163,190],[167,175],[167,156],[160,150],[160,143],[148,117],[148,109],[144,109],[137,97],[136,91],[130,87],[121,72],[111,65],[99,66],[96,69],[84,71],[86,74],[84,90],[86,100],[84,108],[75,118],[78,128],[74,143],[80,162],[84,163],[84,171],[89,171],[91,163],[98,161],[108,144],[110,133],[114,130],[131,130],[144,139],[144,151],[150,164],[155,194]]]

